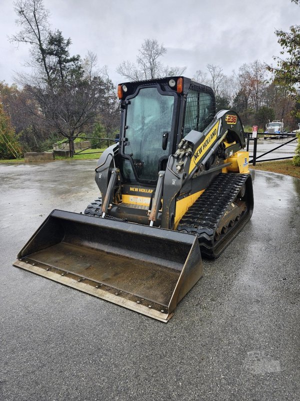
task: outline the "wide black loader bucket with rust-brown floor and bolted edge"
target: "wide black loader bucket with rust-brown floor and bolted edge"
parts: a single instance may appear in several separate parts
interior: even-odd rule
[[[193,235],[59,210],[14,266],[163,322],[202,276]]]

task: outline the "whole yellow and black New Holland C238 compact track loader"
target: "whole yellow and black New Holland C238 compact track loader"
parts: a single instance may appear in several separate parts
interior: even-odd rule
[[[250,219],[241,121],[185,77],[118,85],[119,142],[98,160],[101,198],[54,210],[15,266],[166,322]]]

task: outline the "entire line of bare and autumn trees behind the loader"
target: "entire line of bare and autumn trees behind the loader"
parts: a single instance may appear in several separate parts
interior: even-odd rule
[[[14,10],[20,30],[10,41],[29,46],[31,73],[18,73],[11,86],[0,82],[0,157],[47,150],[62,138],[69,141],[71,153],[77,137],[114,138],[119,110],[107,67],[100,68],[92,52],[84,58],[70,55],[70,38],[50,29],[42,0],[17,0]],[[192,77],[213,89],[217,110],[236,110],[244,126],[264,129],[268,119],[283,119],[286,129],[294,129],[300,121],[299,27],[276,35],[288,56],[275,58],[277,67],[255,60],[228,76],[221,66],[207,64]],[[183,75],[186,66],[162,63],[165,53],[162,44],[145,39],[135,62],[122,61],[116,72],[129,81]]]

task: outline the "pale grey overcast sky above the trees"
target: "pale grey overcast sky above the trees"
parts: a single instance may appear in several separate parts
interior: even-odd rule
[[[187,66],[187,77],[206,64],[229,75],[256,59],[271,63],[280,51],[274,30],[300,23],[300,7],[290,0],[44,0],[44,6],[52,29],[71,38],[70,53],[96,53],[115,84],[123,81],[117,65],[134,62],[145,38],[165,46],[164,64]],[[29,49],[7,39],[18,31],[13,0],[0,0],[0,15],[0,81],[11,84]]]

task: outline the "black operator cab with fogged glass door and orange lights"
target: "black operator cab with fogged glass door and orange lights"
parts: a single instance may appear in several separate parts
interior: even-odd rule
[[[120,84],[118,97],[120,171],[128,183],[155,185],[182,137],[215,115],[211,88],[184,77]]]

